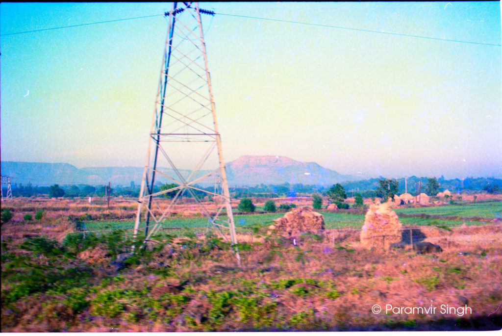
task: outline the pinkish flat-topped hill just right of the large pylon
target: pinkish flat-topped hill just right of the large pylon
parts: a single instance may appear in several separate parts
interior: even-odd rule
[[[230,185],[302,183],[332,185],[353,180],[315,162],[300,162],[285,156],[243,155],[226,165]]]

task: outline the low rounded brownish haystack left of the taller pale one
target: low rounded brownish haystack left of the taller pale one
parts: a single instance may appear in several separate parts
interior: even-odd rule
[[[324,217],[309,207],[295,208],[274,220],[268,234],[277,233],[284,237],[299,236],[305,232],[324,230]]]

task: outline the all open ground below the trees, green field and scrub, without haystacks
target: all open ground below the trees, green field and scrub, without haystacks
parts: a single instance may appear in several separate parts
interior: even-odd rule
[[[294,241],[268,233],[284,213],[236,214],[239,265],[200,216],[170,219],[183,229],[140,248],[142,237],[123,231],[134,204],[2,204],[13,212],[2,223],[2,331],[500,329],[499,206],[397,208],[405,227],[420,228],[414,237],[442,248],[426,254],[367,250],[358,230],[332,234],[360,229],[364,210],[321,210],[332,232]]]

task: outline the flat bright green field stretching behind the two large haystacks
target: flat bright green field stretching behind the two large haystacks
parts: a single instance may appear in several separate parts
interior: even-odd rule
[[[479,202],[465,205],[444,205],[420,208],[396,209],[398,215],[403,214],[421,214],[436,216],[458,216],[458,217],[483,217],[495,218],[500,216],[502,202]],[[320,211],[324,216],[326,229],[337,228],[361,228],[364,223],[362,214],[346,214]],[[234,216],[237,232],[249,231],[249,227],[272,225],[273,220],[283,216],[283,213],[263,213],[263,214],[240,214]],[[430,226],[444,225],[448,227],[459,226],[462,223],[468,225],[483,225],[485,222],[476,220],[452,220],[442,218],[418,218],[418,217],[400,217],[404,225]],[[142,223],[144,225],[144,222]],[[200,229],[207,226],[207,219],[204,217],[175,217],[166,220],[164,228],[182,228],[182,229]],[[87,221],[85,222],[86,231],[114,230],[114,229],[133,229],[134,221]],[[174,230],[173,230],[174,232]]]

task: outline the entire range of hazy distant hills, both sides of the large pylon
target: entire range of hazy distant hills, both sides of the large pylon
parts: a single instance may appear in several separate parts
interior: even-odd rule
[[[2,162],[3,176],[13,177],[13,183],[48,186],[52,184],[106,184],[136,185],[141,183],[143,167],[86,167],[78,169],[67,163]],[[164,169],[175,176],[172,169]],[[334,170],[321,167],[315,162],[300,162],[284,156],[249,156],[244,155],[226,164],[230,186],[256,184],[295,184],[332,185],[342,181],[355,180],[349,175],[342,175]],[[181,170],[188,176],[189,170]],[[205,171],[201,171],[200,175]],[[199,175],[199,176],[200,176]],[[169,181],[157,176],[161,183]]]

